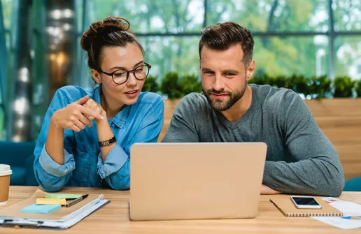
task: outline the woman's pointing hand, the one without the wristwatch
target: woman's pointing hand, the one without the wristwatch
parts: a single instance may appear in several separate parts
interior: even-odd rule
[[[89,100],[91,99],[87,95],[80,98],[78,101],[66,105],[65,108],[54,112],[51,121],[57,128],[80,132],[85,129],[85,125],[89,127],[92,126],[89,117],[92,117],[92,119],[104,119],[99,112],[83,106]]]

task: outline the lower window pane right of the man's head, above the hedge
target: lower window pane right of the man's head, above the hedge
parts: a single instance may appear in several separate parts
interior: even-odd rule
[[[306,76],[328,72],[326,36],[256,37],[253,59],[256,74]]]

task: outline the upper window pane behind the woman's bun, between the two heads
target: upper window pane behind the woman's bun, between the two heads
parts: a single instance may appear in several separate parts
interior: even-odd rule
[[[202,0],[93,0],[89,4],[90,22],[121,16],[131,22],[135,33],[199,32],[204,21]]]

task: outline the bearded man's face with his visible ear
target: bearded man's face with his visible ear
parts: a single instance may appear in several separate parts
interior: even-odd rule
[[[254,71],[254,62],[246,70],[240,44],[227,50],[213,50],[204,46],[199,59],[201,86],[214,110],[225,111],[246,92],[248,80]]]

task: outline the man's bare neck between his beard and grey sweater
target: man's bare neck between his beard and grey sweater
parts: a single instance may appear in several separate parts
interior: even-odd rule
[[[229,122],[236,122],[241,119],[241,117],[246,114],[247,110],[250,108],[252,103],[252,88],[247,85],[246,92],[243,96],[232,105],[232,108],[229,108],[226,111],[222,111],[222,115],[228,119]]]

